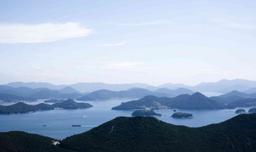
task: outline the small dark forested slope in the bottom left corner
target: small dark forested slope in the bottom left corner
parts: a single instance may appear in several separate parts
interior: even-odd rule
[[[26,132],[0,132],[0,151],[67,151],[53,145],[53,138]]]

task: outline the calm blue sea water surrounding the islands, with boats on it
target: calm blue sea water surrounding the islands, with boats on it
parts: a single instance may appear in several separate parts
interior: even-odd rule
[[[95,126],[112,120],[115,117],[131,117],[133,111],[113,111],[112,107],[120,105],[121,102],[128,100],[113,100],[101,102],[89,102],[93,108],[77,110],[53,110],[38,111],[31,114],[11,114],[0,115],[0,132],[24,131],[45,135],[51,138],[66,138],[81,132],[86,132]],[[35,104],[35,103],[33,103]],[[248,111],[249,108],[244,108]],[[180,110],[181,111],[181,110]],[[236,109],[224,110],[205,110],[205,111],[183,111],[194,115],[193,119],[175,119],[170,117],[173,111],[156,111],[162,114],[157,117],[166,123],[184,126],[206,126],[211,123],[220,123],[224,120],[236,116]],[[81,124],[81,127],[72,126],[72,124]],[[43,126],[47,125],[47,126]]]

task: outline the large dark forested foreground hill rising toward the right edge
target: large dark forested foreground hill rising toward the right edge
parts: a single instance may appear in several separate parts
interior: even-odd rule
[[[117,117],[72,135],[60,147],[76,151],[255,151],[256,114],[189,128],[154,117]]]

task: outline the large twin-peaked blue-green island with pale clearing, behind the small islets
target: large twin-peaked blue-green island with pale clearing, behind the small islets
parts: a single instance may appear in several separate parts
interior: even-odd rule
[[[178,109],[222,109],[229,108],[227,105],[209,99],[201,93],[194,93],[193,95],[180,95],[175,98],[145,96],[142,99],[126,102],[113,110],[130,110],[130,109],[164,109],[164,108],[178,108]]]

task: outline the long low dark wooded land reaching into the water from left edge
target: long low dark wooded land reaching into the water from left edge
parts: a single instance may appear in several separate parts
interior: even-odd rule
[[[78,103],[74,102],[72,99],[68,99],[64,102],[55,103],[53,105],[47,105],[44,103],[38,105],[27,105],[23,102],[18,102],[14,105],[3,106],[0,105],[0,114],[21,114],[29,113],[35,111],[46,111],[53,110],[54,108],[64,108],[64,109],[77,109],[77,108],[91,108],[93,105],[88,103]]]

